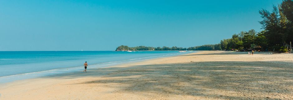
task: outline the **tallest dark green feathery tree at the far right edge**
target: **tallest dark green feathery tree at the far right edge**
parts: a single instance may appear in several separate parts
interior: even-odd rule
[[[263,20],[260,22],[265,29],[263,35],[267,38],[269,48],[281,48],[293,40],[293,1],[284,0],[273,6],[273,11],[260,10]]]

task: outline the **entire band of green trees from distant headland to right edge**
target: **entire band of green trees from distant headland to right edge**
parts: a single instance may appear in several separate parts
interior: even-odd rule
[[[290,42],[293,42],[293,1],[284,0],[281,4],[272,7],[270,12],[259,10],[263,31],[254,29],[233,34],[231,38],[223,39],[219,44],[207,44],[195,47],[128,47],[119,46],[116,51],[168,51],[168,50],[225,50],[225,51],[275,51],[288,52]]]

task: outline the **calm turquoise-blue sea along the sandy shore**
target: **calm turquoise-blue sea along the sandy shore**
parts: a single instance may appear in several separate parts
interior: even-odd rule
[[[170,57],[178,51],[0,51],[0,83],[62,73],[83,73],[84,63],[105,68],[122,63]]]

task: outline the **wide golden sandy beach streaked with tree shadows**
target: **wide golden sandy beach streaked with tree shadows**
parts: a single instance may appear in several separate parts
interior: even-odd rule
[[[0,86],[1,100],[293,99],[293,55],[202,51]]]

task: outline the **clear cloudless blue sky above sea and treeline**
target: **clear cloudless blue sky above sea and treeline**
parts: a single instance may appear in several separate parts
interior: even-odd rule
[[[0,51],[193,47],[262,31],[281,0],[0,0]]]

